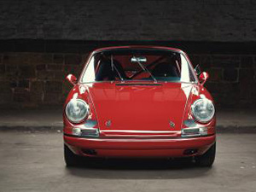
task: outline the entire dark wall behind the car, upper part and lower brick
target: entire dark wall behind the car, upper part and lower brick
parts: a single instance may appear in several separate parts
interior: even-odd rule
[[[183,49],[218,108],[253,108],[255,21],[253,0],[0,0],[0,108],[61,106],[91,50],[125,44]]]

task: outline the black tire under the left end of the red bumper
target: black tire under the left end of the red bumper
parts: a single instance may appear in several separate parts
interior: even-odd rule
[[[81,166],[83,157],[73,154],[73,152],[64,144],[64,159],[66,166]]]

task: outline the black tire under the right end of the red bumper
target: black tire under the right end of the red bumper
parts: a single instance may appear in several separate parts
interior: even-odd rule
[[[202,154],[200,156],[195,156],[195,164],[201,167],[211,167],[215,160],[215,154],[216,154],[216,143],[214,143],[212,147],[209,148],[205,154]]]

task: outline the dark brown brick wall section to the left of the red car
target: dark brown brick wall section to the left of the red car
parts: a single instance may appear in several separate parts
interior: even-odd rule
[[[0,61],[0,107],[35,108],[61,105],[79,75],[84,56],[61,53],[4,53]]]

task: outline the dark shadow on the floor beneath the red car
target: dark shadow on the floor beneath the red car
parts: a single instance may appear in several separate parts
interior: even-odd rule
[[[204,177],[213,171],[214,166],[197,167],[191,159],[95,159],[67,167],[67,172],[73,176],[108,179]]]

